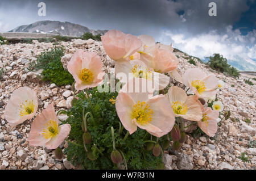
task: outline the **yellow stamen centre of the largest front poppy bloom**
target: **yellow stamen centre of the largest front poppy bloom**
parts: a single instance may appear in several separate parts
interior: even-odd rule
[[[153,110],[146,102],[139,102],[134,104],[133,111],[131,112],[131,118],[136,119],[137,123],[144,125],[152,121]]]

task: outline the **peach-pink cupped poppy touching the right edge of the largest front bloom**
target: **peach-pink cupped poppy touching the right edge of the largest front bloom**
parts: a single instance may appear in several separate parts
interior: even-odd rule
[[[183,117],[191,121],[200,121],[202,119],[201,105],[197,100],[197,96],[187,96],[183,89],[172,86],[168,90],[168,97],[175,117]]]

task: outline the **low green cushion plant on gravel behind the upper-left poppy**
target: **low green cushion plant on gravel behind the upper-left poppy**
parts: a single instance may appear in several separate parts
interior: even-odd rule
[[[64,70],[61,57],[64,56],[63,47],[54,47],[51,50],[41,53],[36,62],[30,62],[28,70],[36,71],[43,69],[42,77],[44,81],[50,81],[57,86],[71,85],[74,82],[72,75]]]

